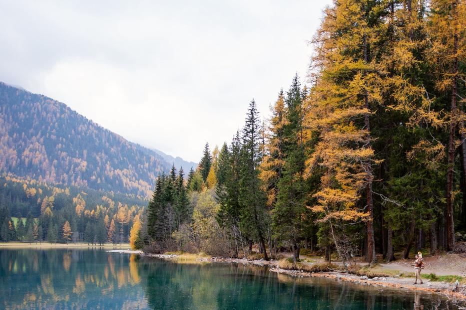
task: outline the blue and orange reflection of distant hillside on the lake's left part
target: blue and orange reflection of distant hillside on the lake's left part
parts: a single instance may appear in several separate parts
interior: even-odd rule
[[[1,250],[0,309],[146,309],[136,261],[81,249]]]

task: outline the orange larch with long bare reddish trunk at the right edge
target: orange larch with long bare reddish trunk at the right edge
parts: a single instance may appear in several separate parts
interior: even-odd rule
[[[465,94],[466,3],[463,0],[432,0],[430,9],[428,17],[429,48],[425,52],[425,57],[433,68],[436,80],[435,88],[438,91],[439,99],[445,103],[450,103],[449,113],[445,116],[445,122],[448,124],[445,216],[447,249],[454,250],[454,166],[455,152],[460,144],[456,141],[459,127],[461,128],[461,136],[465,137],[465,117],[463,113],[460,113],[462,109],[460,109],[458,102],[464,100]],[[459,87],[461,84],[463,87]],[[461,142],[461,144],[464,143],[464,141]],[[465,157],[464,153],[463,157]],[[463,194],[466,195],[466,192]]]

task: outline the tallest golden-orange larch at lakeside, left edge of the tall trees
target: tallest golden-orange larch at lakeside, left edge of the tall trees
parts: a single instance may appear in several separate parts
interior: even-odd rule
[[[381,103],[380,67],[376,41],[381,32],[377,1],[343,0],[325,10],[313,42],[315,87],[309,97],[307,126],[320,139],[307,161],[324,168],[321,189],[314,195],[314,212],[325,214],[335,245],[332,219],[364,220],[367,225],[367,259],[376,262],[374,152],[370,117]],[[308,135],[309,137],[311,134]],[[361,195],[366,205],[358,208]],[[340,251],[340,250],[338,250]]]

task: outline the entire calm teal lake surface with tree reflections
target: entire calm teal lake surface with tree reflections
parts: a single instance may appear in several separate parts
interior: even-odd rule
[[[237,264],[176,264],[99,250],[0,250],[0,309],[428,310],[437,299]]]

